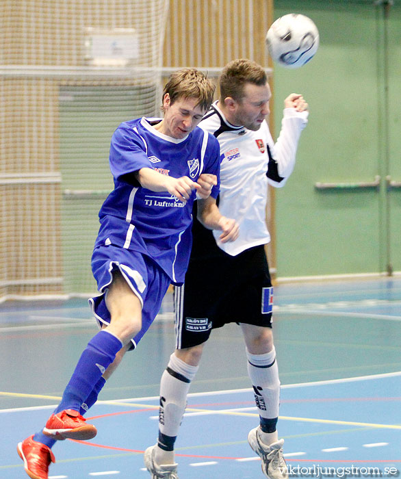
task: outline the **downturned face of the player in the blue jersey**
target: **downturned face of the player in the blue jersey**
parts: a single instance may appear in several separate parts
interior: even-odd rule
[[[163,131],[165,135],[181,140],[198,125],[206,113],[195,98],[179,98],[171,103],[170,96],[164,96]]]

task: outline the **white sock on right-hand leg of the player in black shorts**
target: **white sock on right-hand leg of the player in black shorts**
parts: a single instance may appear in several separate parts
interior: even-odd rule
[[[280,380],[277,367],[276,350],[265,354],[250,354],[248,358],[248,375],[255,392],[255,402],[261,418],[260,438],[263,443],[277,441],[276,422],[279,417]]]

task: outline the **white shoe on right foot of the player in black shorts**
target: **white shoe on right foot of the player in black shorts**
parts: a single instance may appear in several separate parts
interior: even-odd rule
[[[287,465],[283,457],[284,439],[266,445],[262,443],[259,431],[260,426],[250,430],[248,443],[262,460],[263,474],[269,479],[287,479]]]

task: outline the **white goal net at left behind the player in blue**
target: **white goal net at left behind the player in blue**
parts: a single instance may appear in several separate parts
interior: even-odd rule
[[[0,300],[90,295],[109,142],[159,115],[168,0],[0,2]]]

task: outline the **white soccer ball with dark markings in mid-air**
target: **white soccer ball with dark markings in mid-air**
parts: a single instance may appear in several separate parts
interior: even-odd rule
[[[308,16],[290,13],[277,18],[268,29],[266,44],[274,62],[299,68],[318,51],[319,31]]]

